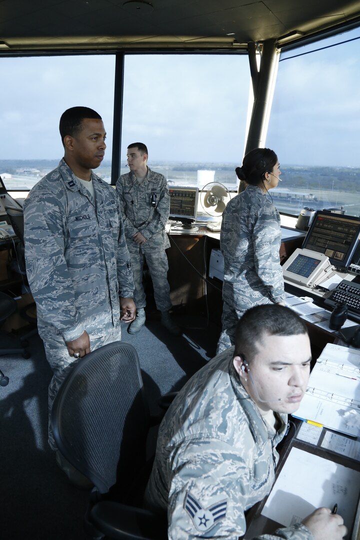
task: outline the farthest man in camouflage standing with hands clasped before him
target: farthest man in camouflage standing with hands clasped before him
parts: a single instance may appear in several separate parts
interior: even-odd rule
[[[117,192],[121,202],[127,247],[134,273],[136,319],[128,327],[136,334],[145,323],[146,295],[142,286],[144,258],[154,287],[154,298],[161,312],[161,323],[172,334],[180,328],[169,315],[172,304],[167,281],[169,269],[166,249],[170,247],[165,226],[169,218],[170,198],[166,178],[147,166],[148,152],[143,143],[127,147],[130,172],[120,176]]]

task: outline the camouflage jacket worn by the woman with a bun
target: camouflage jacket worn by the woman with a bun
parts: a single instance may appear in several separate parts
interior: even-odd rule
[[[227,204],[220,234],[223,299],[237,312],[284,300],[280,244],[279,212],[259,187],[248,186]]]

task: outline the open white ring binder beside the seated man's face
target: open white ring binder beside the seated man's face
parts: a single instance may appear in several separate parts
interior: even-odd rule
[[[360,435],[360,350],[327,343],[293,416],[340,433]]]

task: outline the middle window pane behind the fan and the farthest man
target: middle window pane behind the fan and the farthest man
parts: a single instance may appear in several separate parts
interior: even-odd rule
[[[125,55],[121,173],[139,141],[170,185],[235,190],[249,86],[247,55]]]

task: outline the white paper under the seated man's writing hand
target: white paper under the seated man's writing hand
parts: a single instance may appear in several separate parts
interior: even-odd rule
[[[349,530],[360,492],[360,473],[298,448],[291,448],[262,514],[285,527],[316,508],[334,508]]]

